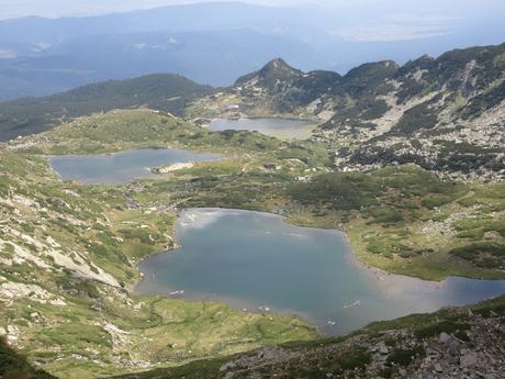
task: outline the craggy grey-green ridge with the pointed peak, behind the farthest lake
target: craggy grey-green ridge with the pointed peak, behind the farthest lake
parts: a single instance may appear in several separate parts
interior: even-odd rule
[[[505,176],[505,44],[364,64],[345,76],[281,59],[186,113],[317,119],[343,170],[414,163],[457,178]],[[233,105],[233,107],[231,107]]]

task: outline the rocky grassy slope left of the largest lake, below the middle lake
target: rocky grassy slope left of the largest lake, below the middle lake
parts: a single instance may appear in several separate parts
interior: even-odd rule
[[[134,261],[170,246],[175,216],[127,210],[124,188],[60,183],[43,159],[4,149],[0,155],[0,326],[10,325],[11,343],[47,371],[91,378],[316,336],[295,319],[133,297]],[[52,250],[93,272],[104,270],[121,286],[76,277]],[[2,289],[8,282],[36,286],[47,298],[30,287],[29,296],[11,301]]]

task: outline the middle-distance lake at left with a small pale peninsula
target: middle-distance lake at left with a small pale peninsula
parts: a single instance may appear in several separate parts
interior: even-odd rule
[[[65,155],[49,157],[49,164],[63,180],[89,185],[122,185],[139,178],[156,178],[150,171],[160,165],[206,161],[220,154],[193,153],[177,148],[143,148],[113,154]]]

